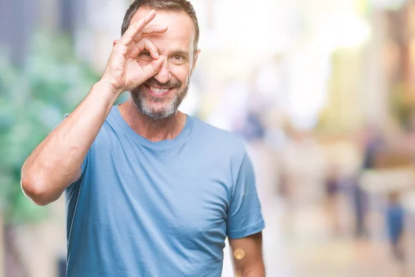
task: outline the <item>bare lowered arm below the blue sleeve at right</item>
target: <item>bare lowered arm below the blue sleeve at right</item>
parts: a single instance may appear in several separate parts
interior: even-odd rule
[[[228,238],[234,276],[264,277],[265,266],[262,255],[262,232],[249,235],[246,238]]]

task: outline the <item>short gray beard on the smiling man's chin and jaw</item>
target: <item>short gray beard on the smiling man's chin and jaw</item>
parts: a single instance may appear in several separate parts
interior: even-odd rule
[[[169,118],[173,116],[178,107],[181,105],[185,97],[187,96],[187,91],[189,90],[189,82],[183,91],[178,90],[174,94],[174,98],[165,103],[161,109],[154,109],[151,107],[151,104],[154,102],[164,102],[165,99],[158,98],[156,96],[151,96],[148,93],[140,91],[139,88],[133,89],[130,92],[131,99],[136,105],[137,109],[146,116],[154,120]]]

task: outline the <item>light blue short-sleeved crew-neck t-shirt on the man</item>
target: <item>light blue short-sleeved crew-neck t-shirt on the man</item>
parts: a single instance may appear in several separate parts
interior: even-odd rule
[[[243,143],[192,116],[151,142],[114,106],[65,196],[68,277],[219,277],[226,236],[264,229]]]

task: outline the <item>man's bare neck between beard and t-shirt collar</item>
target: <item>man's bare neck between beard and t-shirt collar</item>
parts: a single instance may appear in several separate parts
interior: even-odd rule
[[[137,134],[149,141],[164,141],[174,139],[181,133],[186,123],[186,115],[176,111],[169,118],[154,120],[142,114],[133,104],[131,98],[118,106],[122,118]]]

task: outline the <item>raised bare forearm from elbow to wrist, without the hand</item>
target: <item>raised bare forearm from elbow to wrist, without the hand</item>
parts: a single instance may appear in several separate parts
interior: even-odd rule
[[[37,204],[55,201],[75,181],[82,161],[119,93],[102,82],[59,124],[28,157],[21,186]]]

